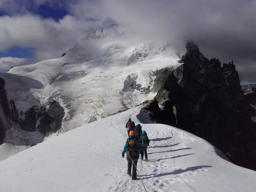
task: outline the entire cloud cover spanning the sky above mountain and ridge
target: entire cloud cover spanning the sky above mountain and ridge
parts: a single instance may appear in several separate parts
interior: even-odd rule
[[[208,59],[234,60],[240,79],[256,81],[256,0],[20,2],[0,0],[0,10],[11,15],[0,17],[0,50],[22,46],[34,48],[38,61],[56,58],[89,31],[115,22],[131,31],[126,37],[131,42],[172,43],[184,50],[185,40],[192,40]],[[59,21],[43,19],[31,12],[28,2],[65,7],[69,15]]]

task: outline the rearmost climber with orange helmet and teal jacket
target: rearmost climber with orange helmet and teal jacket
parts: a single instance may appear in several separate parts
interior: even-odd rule
[[[127,174],[131,175],[132,171],[132,180],[137,179],[136,166],[139,159],[139,153],[142,153],[142,147],[137,138],[135,137],[135,132],[132,130],[129,132],[129,137],[126,140],[124,145],[124,150],[122,151],[122,157],[124,158],[124,153],[126,152],[126,158],[128,161],[128,170]]]

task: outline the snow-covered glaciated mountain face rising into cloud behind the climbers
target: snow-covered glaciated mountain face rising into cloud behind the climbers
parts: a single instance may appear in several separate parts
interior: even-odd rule
[[[61,58],[15,67],[2,76],[18,110],[32,101],[61,103],[65,117],[60,132],[65,132],[152,99],[149,90],[155,76],[163,68],[180,65],[178,60],[171,45],[134,44],[110,35],[82,40]]]

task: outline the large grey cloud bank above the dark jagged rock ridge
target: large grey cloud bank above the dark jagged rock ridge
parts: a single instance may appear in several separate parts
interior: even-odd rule
[[[167,42],[182,49],[185,40],[192,40],[208,59],[234,60],[240,79],[256,82],[255,0],[102,0],[78,5],[71,9],[74,15],[111,18],[136,32],[133,41]]]

